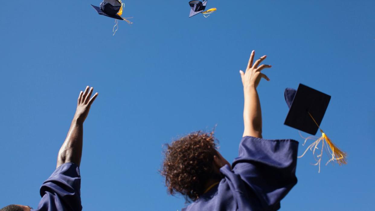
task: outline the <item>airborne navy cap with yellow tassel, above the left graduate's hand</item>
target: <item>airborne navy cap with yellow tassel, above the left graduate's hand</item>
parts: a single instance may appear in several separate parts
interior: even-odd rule
[[[115,19],[115,25],[113,26],[112,30],[113,35],[115,35],[116,31],[118,30],[118,20],[126,21],[128,24],[133,23],[121,17],[124,7],[124,3],[121,2],[121,0],[103,0],[103,2],[100,3],[99,7],[92,4],[91,6],[96,10],[96,12],[98,12],[99,15],[105,15],[107,17]],[[117,27],[116,30],[115,27]]]

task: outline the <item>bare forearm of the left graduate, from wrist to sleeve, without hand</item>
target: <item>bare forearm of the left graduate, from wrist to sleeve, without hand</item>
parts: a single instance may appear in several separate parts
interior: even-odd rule
[[[60,148],[57,156],[57,166],[64,163],[75,163],[80,166],[83,145],[83,123],[78,123],[74,118],[68,135]]]

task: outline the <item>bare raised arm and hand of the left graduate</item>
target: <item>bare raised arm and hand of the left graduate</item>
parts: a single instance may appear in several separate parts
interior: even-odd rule
[[[98,96],[98,93],[95,93],[90,99],[92,93],[93,87],[89,90],[89,86],[86,87],[84,92],[80,92],[77,110],[75,111],[71,127],[64,144],[61,146],[60,151],[58,151],[56,168],[69,162],[80,166],[83,144],[83,122],[89,114],[91,104],[94,102],[96,96]]]

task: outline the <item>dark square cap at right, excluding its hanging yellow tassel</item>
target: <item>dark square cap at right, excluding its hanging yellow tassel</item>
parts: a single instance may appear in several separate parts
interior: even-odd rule
[[[303,84],[300,84],[297,90],[286,88],[284,96],[290,108],[284,124],[315,135],[331,96]]]

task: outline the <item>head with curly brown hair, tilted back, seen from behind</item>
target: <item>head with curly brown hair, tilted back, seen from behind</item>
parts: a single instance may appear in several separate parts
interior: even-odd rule
[[[166,145],[161,174],[168,193],[195,201],[222,179],[220,168],[230,164],[217,151],[213,132],[190,133]]]

